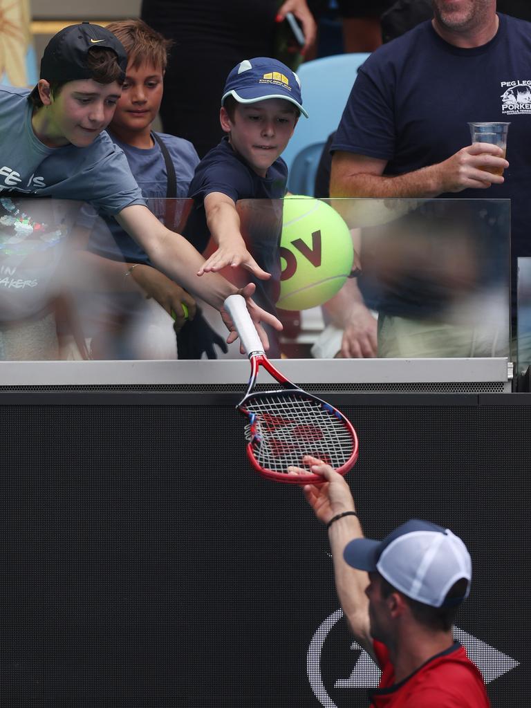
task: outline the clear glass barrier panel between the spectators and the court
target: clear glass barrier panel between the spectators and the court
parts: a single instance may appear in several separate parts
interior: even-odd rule
[[[215,251],[191,200],[148,206],[205,257]],[[271,357],[509,355],[509,200],[289,197],[237,209],[272,277],[222,275],[255,282],[258,304],[278,314]],[[183,297],[112,217],[0,198],[0,360],[241,358],[210,305],[198,300],[185,321]]]

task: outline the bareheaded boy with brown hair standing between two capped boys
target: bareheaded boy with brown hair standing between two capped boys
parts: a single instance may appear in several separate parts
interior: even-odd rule
[[[178,222],[178,215],[174,215],[174,212],[176,207],[179,209],[182,205],[165,200],[186,197],[199,158],[188,140],[152,130],[164,90],[164,72],[171,42],[138,19],[113,22],[107,25],[107,29],[120,40],[127,52],[122,95],[118,99],[107,132],[124,152],[144,198],[159,200],[151,202],[150,208],[154,210],[156,206],[156,216],[173,229],[177,227]],[[201,358],[203,352],[207,353],[208,358],[215,356],[212,346],[205,347],[204,338],[189,336],[190,330],[194,333],[198,330],[198,323],[188,321],[189,312],[195,312],[194,319],[202,319],[191,296],[153,267],[147,253],[115,219],[105,217],[93,224],[89,251],[117,262],[128,263],[126,272],[130,274],[130,280],[173,317],[173,328],[176,332],[185,326],[188,336],[182,334],[177,338],[179,358]],[[144,314],[147,314],[148,321],[159,322],[156,333],[161,341],[171,339],[173,335],[171,318],[168,316],[166,319],[162,312],[153,312],[149,317],[146,313],[149,303],[138,292],[115,292],[106,305],[111,312],[108,323],[103,324],[111,326],[113,331],[112,336],[99,338],[100,343],[106,340],[110,347],[106,347],[106,351],[100,351],[98,358],[112,357],[117,348],[120,357],[124,358],[130,332],[136,329],[139,322],[144,322]],[[226,350],[219,337],[215,338],[215,343],[222,350]],[[155,342],[154,345],[154,352],[159,351],[159,343]],[[170,342],[169,346],[171,347]],[[168,349],[163,348],[163,351],[167,352]],[[135,357],[135,352],[130,355]],[[174,336],[172,355],[175,356]],[[159,355],[153,353],[150,358],[157,356]],[[170,354],[166,353],[164,356],[169,357]]]

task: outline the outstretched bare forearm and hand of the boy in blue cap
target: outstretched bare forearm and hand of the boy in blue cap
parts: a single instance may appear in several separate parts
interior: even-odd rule
[[[212,192],[205,197],[205,212],[207,226],[217,244],[217,251],[207,258],[202,268],[198,270],[198,275],[216,273],[227,265],[232,268],[240,265],[261,280],[270,278],[270,273],[260,268],[246,248],[234,201],[226,194]]]

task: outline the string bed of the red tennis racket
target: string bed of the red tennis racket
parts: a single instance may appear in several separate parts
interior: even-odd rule
[[[353,453],[353,437],[331,406],[299,395],[253,395],[245,403],[251,422],[246,438],[263,469],[287,474],[287,467],[306,467],[312,455],[335,469]]]

